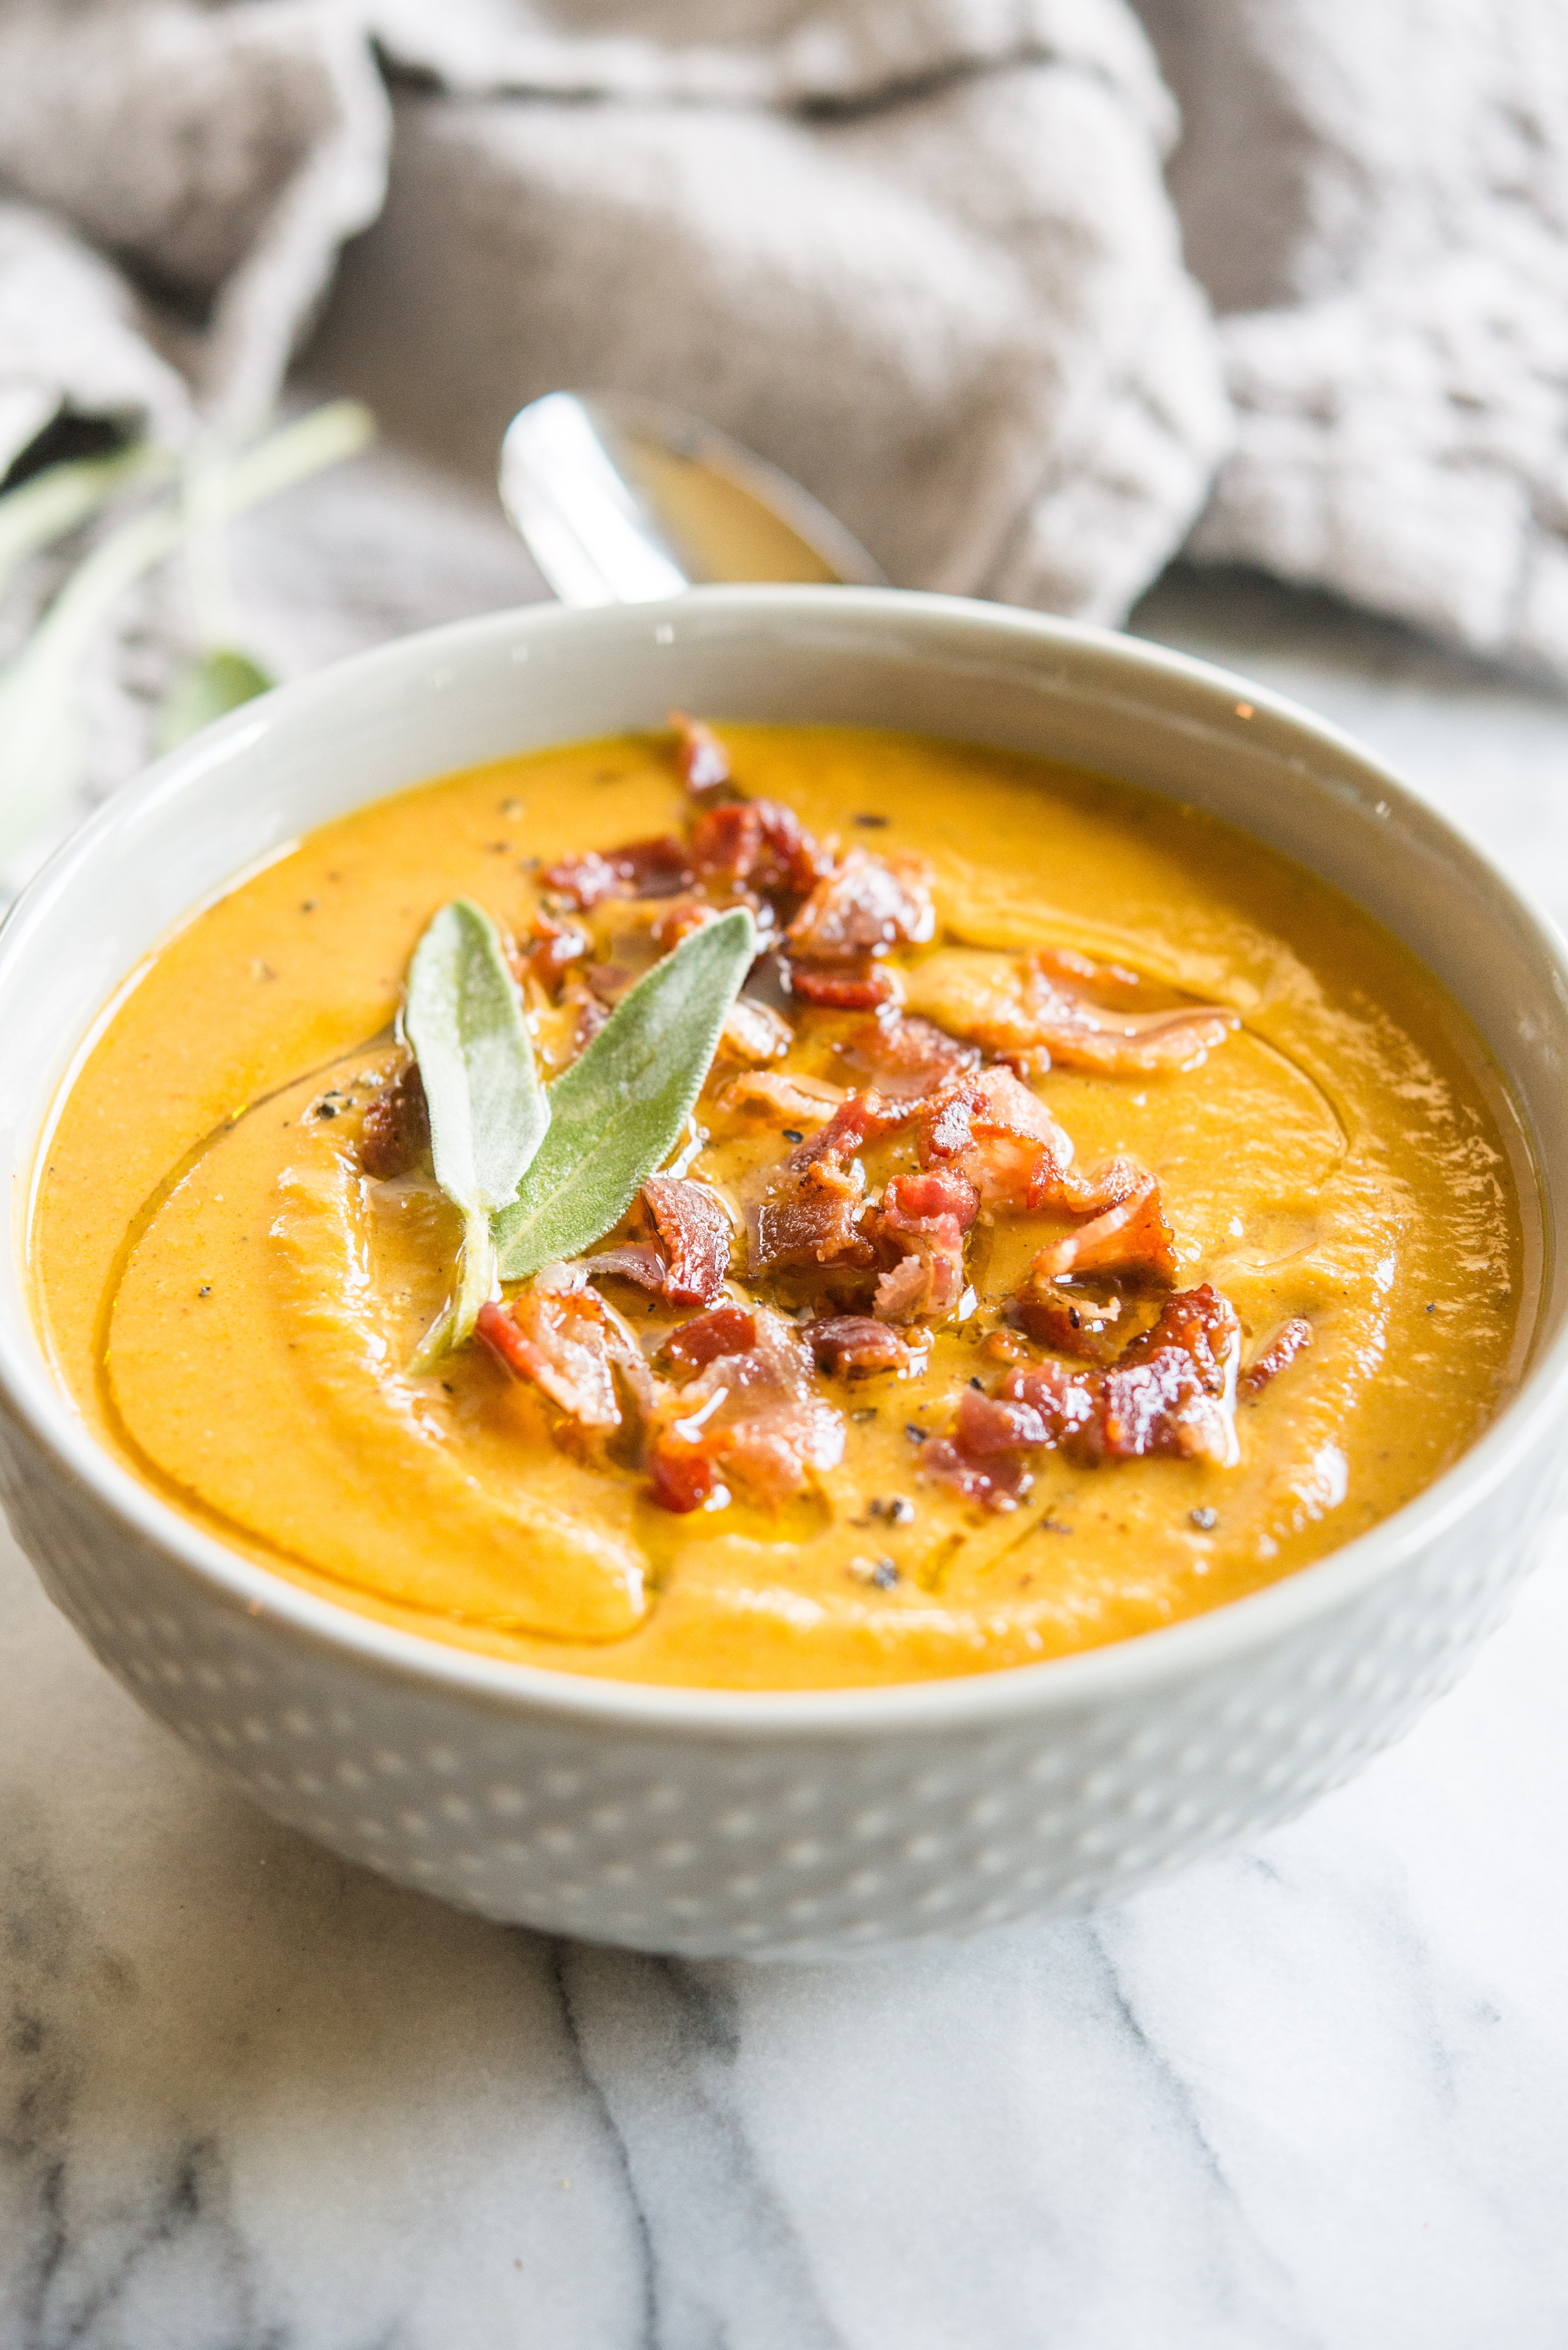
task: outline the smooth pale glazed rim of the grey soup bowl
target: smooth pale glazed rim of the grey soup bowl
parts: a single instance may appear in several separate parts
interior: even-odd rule
[[[1378,794],[1390,806],[1397,806],[1401,815],[1413,818],[1427,839],[1441,844],[1448,858],[1469,865],[1472,872],[1491,881],[1528,942],[1554,966],[1559,992],[1554,1013],[1568,1027],[1568,940],[1563,940],[1552,916],[1502,872],[1483,846],[1411,792],[1380,759],[1343,728],[1314,717],[1289,696],[1275,693],[1253,679],[1197,656],[1082,620],[1063,620],[1019,606],[984,604],[969,597],[920,590],[817,585],[695,588],[681,597],[634,606],[566,609],[559,604],[523,604],[507,611],[479,613],[469,620],[451,620],[441,627],[371,646],[364,653],[352,653],[310,677],[275,689],[148,766],[89,815],[31,877],[0,921],[0,1003],[5,1001],[5,989],[16,985],[16,971],[26,971],[31,928],[47,905],[61,891],[70,888],[80,867],[101,855],[113,855],[122,827],[134,822],[150,801],[200,792],[204,780],[216,785],[232,754],[265,740],[279,724],[291,724],[296,717],[324,714],[343,691],[373,686],[376,682],[387,684],[397,672],[415,670],[430,656],[484,651],[486,639],[495,639],[498,646],[507,646],[509,651],[516,644],[519,630],[549,634],[584,623],[606,625],[617,616],[622,623],[634,618],[657,632],[671,620],[716,606],[742,613],[751,611],[758,623],[770,613],[779,616],[784,611],[810,616],[812,609],[826,620],[859,609],[869,618],[915,620],[915,625],[922,618],[946,623],[948,627],[960,623],[991,639],[1033,639],[1042,651],[1101,653],[1131,672],[1143,672],[1143,677],[1181,682],[1214,700],[1216,717],[1221,714],[1221,703],[1235,714],[1239,696],[1249,705],[1249,717],[1270,719],[1291,736],[1305,738],[1307,745],[1326,750],[1340,761],[1354,761],[1366,780],[1376,785]],[[655,642],[669,639],[655,637]],[[216,886],[214,895],[223,886]],[[70,1067],[75,1067],[75,1060]],[[70,1081],[70,1067],[61,1076],[61,1086]],[[52,1095],[52,1107],[59,1100],[61,1086]],[[40,1128],[28,1133],[19,1163],[12,1170],[21,1201],[26,1201],[31,1170],[45,1133],[47,1116]],[[1528,1142],[1535,1154],[1535,1135],[1528,1135]],[[1542,1210],[1547,1210],[1545,1196]],[[14,1217],[12,1253],[31,1314],[23,1215]],[[317,1657],[352,1661],[380,1680],[418,1685],[432,1697],[472,1699],[495,1716],[512,1716],[516,1720],[554,1716],[559,1723],[582,1730],[636,1730],[643,1737],[697,1734],[714,1744],[800,1737],[864,1739],[920,1730],[944,1734],[986,1732],[1019,1716],[1075,1716],[1101,1704],[1136,1699],[1164,1683],[1221,1668],[1249,1650],[1263,1650],[1289,1638],[1291,1631],[1314,1617],[1352,1605],[1373,1584],[1399,1572],[1401,1565],[1441,1539],[1460,1518],[1479,1509],[1514,1476],[1523,1457],[1547,1434],[1549,1417],[1568,1398],[1566,1325],[1528,1363],[1519,1389],[1483,1436],[1411,1502],[1340,1549],[1282,1577],[1277,1584],[1265,1584],[1258,1591],[1225,1600],[1204,1614],[1066,1657],[1045,1657],[1033,1664],[998,1666],[979,1673],[826,1690],[711,1690],[681,1683],[615,1680],[610,1676],[570,1673],[491,1657],[481,1650],[383,1624],[350,1600],[333,1600],[289,1582],[289,1577],[261,1560],[246,1558],[216,1535],[204,1532],[195,1520],[183,1518],[150,1485],[143,1485],[99,1445],[63,1382],[52,1370],[38,1328],[33,1328],[31,1337],[33,1356],[26,1354],[23,1344],[7,1328],[0,1328],[0,1408],[21,1422],[56,1476],[82,1488],[99,1509],[108,1511],[143,1544],[164,1553],[190,1582],[202,1584],[209,1598],[223,1603],[232,1614],[277,1626],[303,1647],[315,1650]]]

